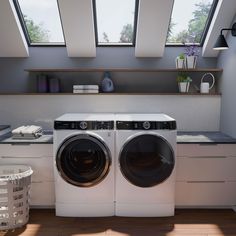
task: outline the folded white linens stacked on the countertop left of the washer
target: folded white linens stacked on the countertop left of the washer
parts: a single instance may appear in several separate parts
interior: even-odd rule
[[[42,136],[42,127],[36,125],[20,126],[12,130],[13,139],[36,139]]]

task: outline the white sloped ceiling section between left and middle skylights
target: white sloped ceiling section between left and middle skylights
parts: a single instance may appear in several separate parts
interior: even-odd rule
[[[95,57],[92,0],[58,0],[69,57]]]

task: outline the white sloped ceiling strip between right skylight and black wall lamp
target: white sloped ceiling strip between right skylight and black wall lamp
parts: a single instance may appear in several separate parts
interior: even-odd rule
[[[217,37],[222,28],[230,28],[236,13],[236,0],[219,0],[211,21],[203,48],[203,57],[217,57],[219,51],[213,50]],[[227,32],[225,32],[227,34]]]

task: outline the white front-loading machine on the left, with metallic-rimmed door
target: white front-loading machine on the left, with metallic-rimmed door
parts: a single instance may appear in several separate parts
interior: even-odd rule
[[[64,114],[54,121],[57,216],[114,215],[114,115]]]

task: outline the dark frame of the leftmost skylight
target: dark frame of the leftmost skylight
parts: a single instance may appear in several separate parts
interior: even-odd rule
[[[25,24],[23,12],[21,10],[19,1],[18,0],[13,0],[13,4],[15,6],[16,13],[17,13],[18,19],[19,19],[20,24],[21,24],[21,28],[24,32],[24,36],[25,36],[26,42],[27,42],[29,47],[66,47],[65,34],[64,34],[64,29],[63,29],[62,20],[61,20],[61,12],[60,12],[60,9],[59,9],[59,6],[58,6],[58,0],[56,0],[56,2],[57,2],[58,12],[59,12],[59,19],[60,19],[60,23],[61,23],[64,43],[56,43],[56,42],[54,42],[54,43],[53,42],[50,42],[50,43],[33,43],[33,42],[31,42],[29,32],[28,32],[27,26]]]

